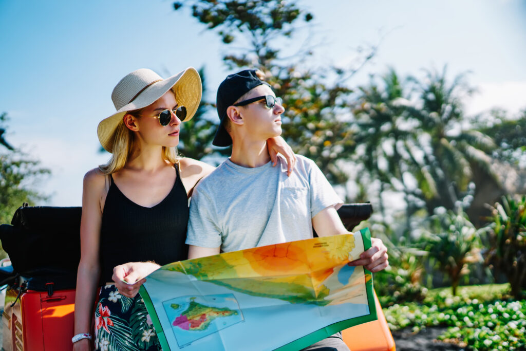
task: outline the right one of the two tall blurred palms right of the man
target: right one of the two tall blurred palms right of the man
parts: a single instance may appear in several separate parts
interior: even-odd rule
[[[498,182],[491,169],[493,139],[463,124],[462,99],[473,89],[465,83],[465,74],[449,83],[446,73],[444,66],[441,73],[427,71],[422,81],[410,78],[419,104],[408,106],[407,112],[418,123],[418,139],[424,145],[423,165],[429,176],[419,178],[419,187],[428,213],[439,206],[458,208],[476,172]]]

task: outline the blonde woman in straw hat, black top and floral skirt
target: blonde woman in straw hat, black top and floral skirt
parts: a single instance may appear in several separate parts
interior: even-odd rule
[[[214,167],[177,156],[175,146],[181,121],[199,106],[201,80],[191,67],[167,79],[138,69],[117,84],[112,99],[117,112],[97,129],[112,157],[84,177],[73,349],[91,349],[95,294],[102,285],[95,348],[159,350],[142,299],[119,294],[112,274],[127,262],[164,265],[187,258],[188,198]],[[282,139],[269,139],[269,149],[294,167],[294,154]]]

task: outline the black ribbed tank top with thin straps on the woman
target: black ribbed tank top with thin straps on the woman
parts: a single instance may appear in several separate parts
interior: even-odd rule
[[[165,265],[188,257],[185,244],[188,200],[179,177],[170,193],[153,207],[140,206],[115,185],[106,195],[100,227],[100,282],[112,281],[113,267],[127,262]]]

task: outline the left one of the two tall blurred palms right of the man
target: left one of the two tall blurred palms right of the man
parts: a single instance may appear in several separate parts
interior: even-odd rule
[[[407,184],[407,172],[413,172],[416,164],[413,150],[416,136],[408,123],[406,106],[409,92],[404,88],[398,74],[390,68],[381,77],[380,85],[375,77],[367,86],[359,87],[359,97],[354,114],[357,132],[356,162],[362,164],[372,177],[380,181],[381,194],[389,189],[404,193],[407,223],[416,210],[414,192],[417,189]],[[379,203],[380,213],[385,218],[385,208]]]

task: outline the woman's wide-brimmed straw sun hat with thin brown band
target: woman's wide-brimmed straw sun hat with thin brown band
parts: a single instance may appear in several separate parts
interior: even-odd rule
[[[167,91],[172,90],[179,106],[186,107],[189,121],[201,101],[201,78],[194,67],[188,67],[174,76],[163,79],[154,71],[140,68],[131,72],[115,86],[112,100],[117,112],[103,119],[97,127],[100,144],[112,152],[115,129],[128,111],[153,104]]]

